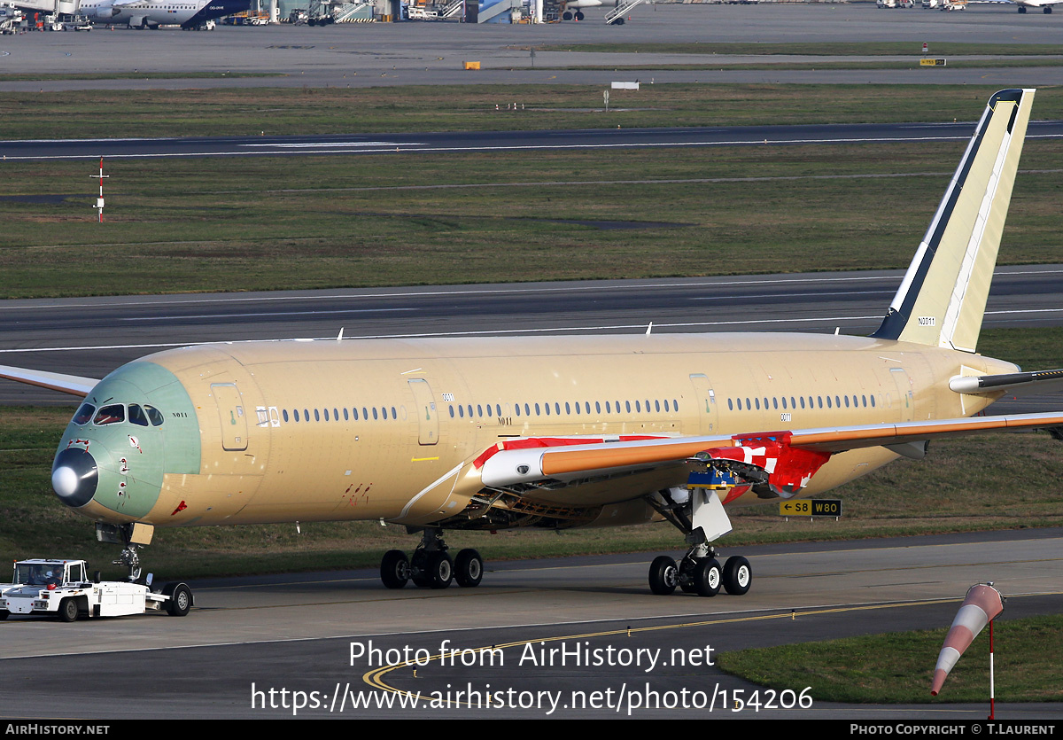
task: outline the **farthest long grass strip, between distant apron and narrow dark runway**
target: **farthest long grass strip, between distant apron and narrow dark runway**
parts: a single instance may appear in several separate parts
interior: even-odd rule
[[[627,110],[608,115],[594,113],[602,107],[601,85],[6,93],[0,139],[65,138],[71,131],[98,131],[101,120],[116,137],[974,121],[997,90],[642,81],[640,90],[612,90],[610,105]],[[513,101],[524,110],[506,112]],[[1063,88],[1039,89],[1034,116],[1063,118]]]

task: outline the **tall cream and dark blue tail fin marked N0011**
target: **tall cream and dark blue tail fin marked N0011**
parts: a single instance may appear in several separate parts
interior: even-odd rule
[[[1032,89],[1000,90],[990,98],[872,336],[975,351],[1032,103]]]

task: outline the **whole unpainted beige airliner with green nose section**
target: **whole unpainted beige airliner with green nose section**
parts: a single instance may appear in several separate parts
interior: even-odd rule
[[[870,337],[689,334],[202,344],[103,380],[0,368],[83,397],[52,468],[58,500],[122,545],[155,527],[378,520],[420,533],[389,588],[480,583],[446,529],[667,520],[689,548],[649,586],[745,593],[721,565],[731,506],[807,498],[929,440],[1047,428],[1063,411],[975,416],[1063,387],[977,353],[1033,101],[995,94],[880,327]],[[1016,444],[1022,443],[1016,440]]]

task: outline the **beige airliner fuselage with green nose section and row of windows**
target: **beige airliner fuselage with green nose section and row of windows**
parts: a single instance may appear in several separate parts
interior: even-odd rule
[[[56,456],[57,469],[64,455],[69,463],[86,452],[96,477],[53,483],[65,503],[112,523],[457,522],[482,488],[476,458],[500,441],[958,418],[991,398],[955,393],[949,377],[1014,367],[923,344],[831,335],[190,347],[150,355],[101,381]],[[895,457],[880,447],[837,454],[803,494]],[[579,509],[572,525],[644,522],[654,511],[642,497],[681,486],[686,475],[681,466],[636,471],[583,485],[578,493],[561,487],[524,498]],[[745,491],[727,503],[755,501]]]

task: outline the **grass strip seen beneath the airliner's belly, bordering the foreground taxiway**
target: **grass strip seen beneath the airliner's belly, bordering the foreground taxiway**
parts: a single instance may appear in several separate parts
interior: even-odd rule
[[[1063,367],[1063,329],[983,332],[980,350],[1028,368]],[[50,485],[55,448],[71,408],[0,408],[0,560],[77,556],[95,568],[117,556],[92,525],[62,506]],[[1006,455],[1000,451],[1007,450]],[[841,489],[841,521],[786,522],[775,505],[737,509],[721,544],[838,540],[1063,525],[1058,482],[1063,447],[1047,434],[943,440],[926,460],[900,459]],[[1001,493],[1001,491],[1007,491]],[[376,567],[391,548],[409,550],[404,527],[373,522],[159,529],[146,556],[161,576],[268,573]],[[473,546],[489,560],[574,554],[682,550],[669,524],[615,529],[453,533],[452,546]],[[119,570],[104,567],[113,576]]]

